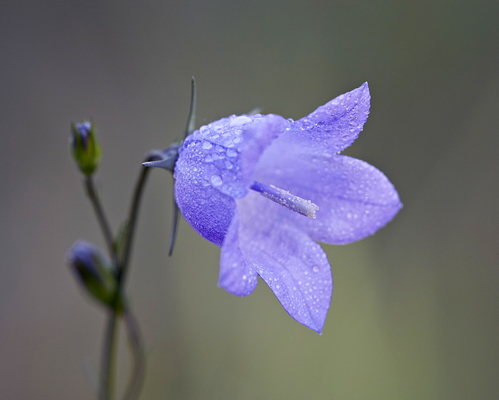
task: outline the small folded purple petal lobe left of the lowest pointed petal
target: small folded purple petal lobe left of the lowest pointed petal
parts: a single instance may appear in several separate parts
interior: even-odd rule
[[[218,285],[233,295],[248,296],[256,287],[258,276],[256,266],[241,253],[239,224],[236,209],[222,247]]]

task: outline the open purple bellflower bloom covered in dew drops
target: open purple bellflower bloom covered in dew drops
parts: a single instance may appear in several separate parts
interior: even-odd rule
[[[366,82],[297,121],[232,115],[186,138],[175,197],[222,248],[220,287],[247,296],[260,276],[292,318],[321,333],[332,275],[316,241],[363,239],[402,207],[382,172],[339,154],[362,130],[369,100]]]

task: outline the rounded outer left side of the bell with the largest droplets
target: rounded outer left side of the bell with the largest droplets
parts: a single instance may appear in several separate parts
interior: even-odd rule
[[[285,130],[278,115],[232,115],[188,136],[175,164],[175,197],[189,224],[222,246],[235,198],[248,192],[256,162]]]

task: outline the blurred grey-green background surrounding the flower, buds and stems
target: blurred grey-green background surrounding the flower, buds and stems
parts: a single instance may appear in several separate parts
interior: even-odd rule
[[[68,152],[92,117],[113,227],[143,155],[255,106],[300,118],[369,82],[345,153],[404,208],[375,236],[324,248],[322,336],[260,282],[217,288],[219,248],[148,182],[128,282],[148,346],[142,399],[493,399],[498,384],[497,1],[0,2],[0,398],[92,399],[105,314],[64,263],[103,246]],[[120,342],[119,387],[129,371]],[[120,392],[121,393],[121,392]]]

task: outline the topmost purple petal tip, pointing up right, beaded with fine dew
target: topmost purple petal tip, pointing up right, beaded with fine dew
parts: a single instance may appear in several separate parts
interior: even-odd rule
[[[293,122],[288,133],[279,140],[338,153],[350,146],[362,130],[369,114],[370,99],[365,82]]]

